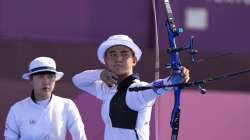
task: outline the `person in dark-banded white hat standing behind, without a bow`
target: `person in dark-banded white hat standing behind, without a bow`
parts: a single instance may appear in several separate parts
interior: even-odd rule
[[[54,59],[35,58],[22,77],[31,82],[33,90],[30,97],[10,108],[5,140],[65,140],[67,130],[73,140],[87,140],[75,103],[52,94],[56,81],[63,77]]]

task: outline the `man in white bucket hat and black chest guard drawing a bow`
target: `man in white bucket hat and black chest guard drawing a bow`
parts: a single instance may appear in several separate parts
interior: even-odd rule
[[[141,49],[127,35],[110,36],[99,46],[97,57],[105,69],[86,70],[73,77],[79,89],[103,101],[102,119],[105,140],[149,140],[149,122],[156,99],[169,89],[128,91],[129,87],[170,84],[168,78],[152,83],[140,81],[133,68],[140,60]],[[189,71],[182,71],[189,80]]]

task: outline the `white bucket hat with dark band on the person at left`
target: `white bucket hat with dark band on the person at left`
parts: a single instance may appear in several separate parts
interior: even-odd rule
[[[50,57],[37,57],[30,62],[29,72],[23,74],[23,79],[30,80],[30,75],[38,72],[54,72],[56,74],[56,81],[60,80],[64,73],[56,70],[56,62]]]

